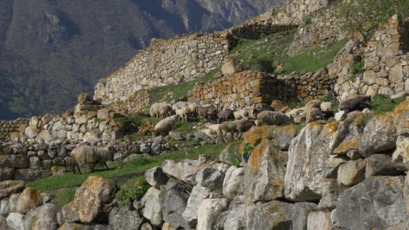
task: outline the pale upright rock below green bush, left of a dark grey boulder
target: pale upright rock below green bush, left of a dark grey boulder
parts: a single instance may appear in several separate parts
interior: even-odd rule
[[[158,189],[150,187],[141,199],[141,213],[151,224],[161,227],[164,220],[159,195]]]

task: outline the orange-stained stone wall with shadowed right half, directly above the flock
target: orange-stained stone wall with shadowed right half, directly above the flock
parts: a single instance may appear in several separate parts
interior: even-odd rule
[[[254,104],[265,107],[272,100],[297,102],[323,98],[334,94],[335,84],[335,78],[329,76],[327,69],[285,77],[243,71],[214,82],[198,82],[189,101],[211,103],[218,109],[237,109]]]

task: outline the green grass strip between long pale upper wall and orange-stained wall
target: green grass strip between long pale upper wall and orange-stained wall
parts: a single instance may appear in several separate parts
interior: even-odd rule
[[[169,96],[168,98],[165,99],[166,102],[171,101],[173,98],[180,98],[182,96],[187,96],[187,92],[195,87],[196,82],[209,82],[210,80],[214,79],[214,75],[220,71],[222,67],[218,67],[216,69],[212,69],[209,71],[209,73],[206,73],[202,78],[192,80],[190,82],[180,82],[177,85],[165,85],[162,87],[155,87],[152,89],[149,89],[149,94],[151,101],[153,103],[159,102],[168,92],[173,91],[173,96]],[[151,105],[148,105],[146,107],[143,107],[143,109],[150,109]]]

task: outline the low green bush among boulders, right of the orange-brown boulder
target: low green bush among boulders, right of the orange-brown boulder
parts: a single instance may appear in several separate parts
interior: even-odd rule
[[[121,186],[119,193],[116,193],[116,200],[123,207],[129,206],[134,200],[140,199],[149,188],[145,177],[134,177]]]

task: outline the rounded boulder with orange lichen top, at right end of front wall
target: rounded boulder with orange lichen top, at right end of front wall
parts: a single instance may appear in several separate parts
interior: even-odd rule
[[[364,157],[393,150],[397,146],[397,138],[394,114],[392,112],[378,114],[365,126],[358,150]]]

